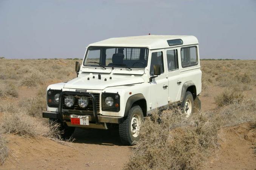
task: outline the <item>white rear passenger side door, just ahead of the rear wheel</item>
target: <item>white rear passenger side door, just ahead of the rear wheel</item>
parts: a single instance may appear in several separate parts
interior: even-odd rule
[[[167,62],[167,79],[168,79],[168,103],[176,102],[178,94],[181,90],[181,79],[178,61],[178,50],[167,49],[166,62]]]

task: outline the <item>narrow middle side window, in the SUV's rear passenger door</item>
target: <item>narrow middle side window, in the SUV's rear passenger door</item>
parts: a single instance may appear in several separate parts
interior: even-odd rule
[[[177,52],[177,50],[166,51],[168,71],[176,70],[179,68]]]

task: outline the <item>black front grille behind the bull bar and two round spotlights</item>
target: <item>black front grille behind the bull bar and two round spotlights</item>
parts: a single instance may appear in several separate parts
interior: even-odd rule
[[[96,108],[97,108],[97,112],[100,111],[100,94],[99,93],[92,93],[96,99]],[[72,107],[67,107],[65,105],[65,97],[66,96],[70,96],[70,95],[65,95],[65,96],[62,96],[62,109],[69,109],[69,110],[77,110],[77,111],[91,111],[93,112],[93,99],[89,96],[86,96],[89,98],[89,104],[87,107],[85,108],[81,108],[78,104],[78,100],[80,97],[82,97],[83,95],[71,95],[71,96],[74,96],[75,97],[75,103],[74,103],[74,106]]]

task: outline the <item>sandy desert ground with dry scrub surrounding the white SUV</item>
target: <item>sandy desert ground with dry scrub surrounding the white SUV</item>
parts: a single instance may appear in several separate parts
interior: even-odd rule
[[[114,129],[76,129],[63,141],[42,118],[46,87],[76,77],[75,61],[0,59],[0,169],[256,168],[255,60],[200,61],[201,111],[154,113],[133,147]]]

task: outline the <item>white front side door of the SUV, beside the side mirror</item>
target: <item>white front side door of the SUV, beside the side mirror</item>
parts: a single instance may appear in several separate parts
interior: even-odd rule
[[[151,53],[150,76],[154,75],[154,65],[161,67],[161,74],[150,82],[150,109],[168,104],[168,79],[166,78],[165,61],[162,51]]]

